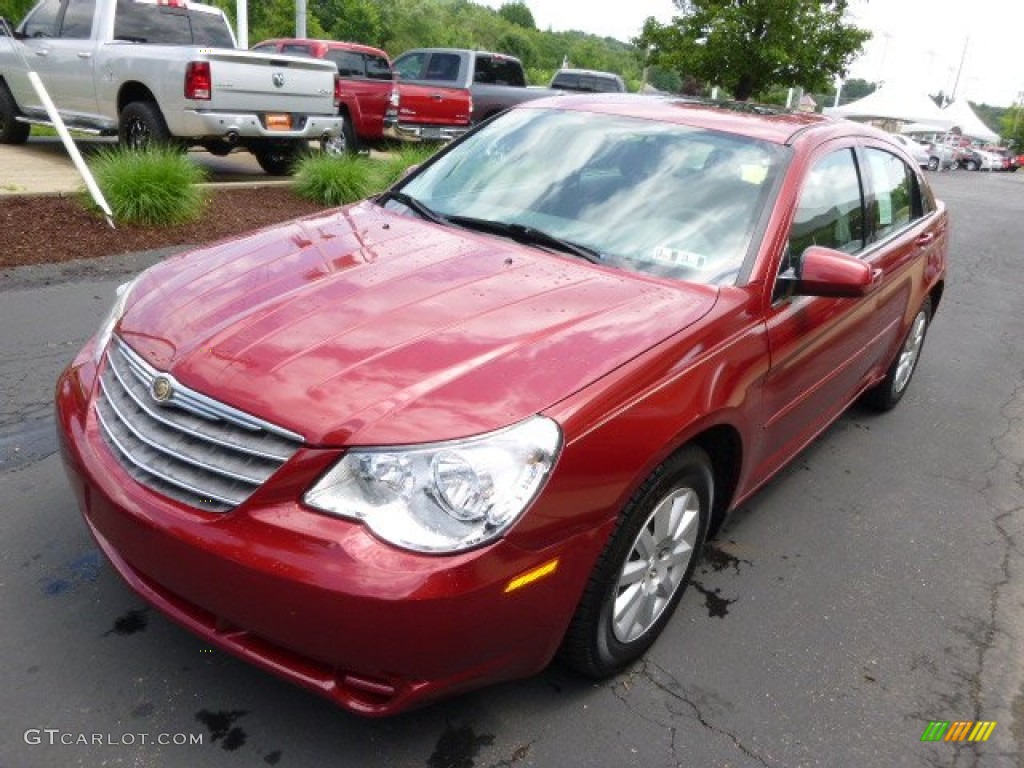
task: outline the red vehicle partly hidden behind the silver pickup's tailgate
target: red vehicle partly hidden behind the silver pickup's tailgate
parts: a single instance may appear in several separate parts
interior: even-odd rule
[[[359,142],[383,138],[385,117],[388,111],[395,112],[397,102],[394,72],[387,53],[358,43],[300,38],[264,40],[252,49],[325,58],[338,68],[335,98],[343,122],[339,135],[325,150],[355,152]]]

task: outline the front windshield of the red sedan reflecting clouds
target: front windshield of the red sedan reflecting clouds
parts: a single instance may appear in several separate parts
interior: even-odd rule
[[[515,224],[604,263],[734,282],[786,151],[687,126],[562,110],[503,115],[401,191],[434,213]]]

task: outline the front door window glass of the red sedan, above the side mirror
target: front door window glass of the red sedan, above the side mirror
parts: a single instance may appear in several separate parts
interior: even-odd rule
[[[863,199],[853,150],[819,159],[808,171],[790,229],[787,259],[799,259],[810,246],[857,253],[864,247]]]

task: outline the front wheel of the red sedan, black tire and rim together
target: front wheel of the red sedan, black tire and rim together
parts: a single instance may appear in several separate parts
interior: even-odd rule
[[[562,640],[559,658],[564,664],[589,677],[607,677],[657,639],[699,559],[714,501],[713,478],[708,455],[687,445],[637,489]]]

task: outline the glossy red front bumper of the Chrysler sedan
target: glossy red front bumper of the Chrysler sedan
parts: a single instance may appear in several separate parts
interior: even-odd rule
[[[92,407],[90,347],[57,384],[68,475],[86,522],[139,595],[211,645],[364,715],[390,715],[551,659],[603,527],[544,551],[507,541],[437,557],[397,550],[296,500],[337,458],[301,449],[242,506],[194,509],[131,478]],[[559,558],[554,573],[509,582]]]

